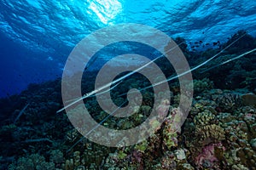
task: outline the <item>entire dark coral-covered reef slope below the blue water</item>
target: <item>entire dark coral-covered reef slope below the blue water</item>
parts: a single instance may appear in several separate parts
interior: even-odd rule
[[[237,37],[244,34],[238,32]],[[230,44],[227,42],[223,47]],[[177,38],[183,42],[183,38]],[[251,41],[251,42],[247,42]],[[253,41],[253,42],[252,42]],[[209,67],[232,59],[242,50],[253,48],[255,39],[245,35],[224,55],[209,62]],[[198,64],[218,53],[209,49],[203,54],[190,53],[189,62]],[[220,47],[221,48],[221,47]],[[141,143],[127,147],[111,148],[95,144],[74,129],[67,114],[55,112],[61,109],[61,81],[31,85],[26,91],[9,99],[0,99],[3,114],[0,127],[0,169],[256,169],[256,108],[255,108],[255,53],[242,60],[220,66],[218,69],[195,71],[195,96],[189,116],[181,125],[182,111],[179,110],[180,88],[174,80],[170,84],[170,97],[157,101],[155,110],[167,116],[163,123],[153,118],[148,129],[156,130]],[[203,58],[204,56],[205,58]],[[224,60],[222,60],[224,59]],[[158,63],[166,77],[172,69],[166,63]],[[219,75],[223,75],[220,77]],[[94,87],[96,72],[90,72],[82,81],[82,92]],[[157,79],[158,77],[156,77]],[[150,84],[145,77],[134,75],[124,80],[111,91],[110,100],[116,105],[126,102],[123,94],[131,88],[145,88]],[[140,86],[142,85],[142,87]],[[188,84],[191,86],[191,84]],[[136,127],[147,120],[154,105],[154,97],[165,96],[166,92],[154,94],[153,89],[142,90],[141,106],[132,107],[131,116],[119,118],[102,111],[92,96],[84,99],[90,116],[102,126],[125,130]],[[65,92],[63,92],[65,93]],[[168,92],[169,95],[169,92]],[[135,99],[134,102],[137,102]],[[127,102],[128,103],[128,102]],[[28,105],[29,104],[29,105]],[[125,103],[126,105],[126,103]],[[5,107],[2,107],[5,106]],[[80,113],[82,105],[71,111]],[[72,117],[72,114],[69,115]],[[83,116],[83,115],[81,115]],[[106,118],[108,117],[108,118]],[[73,117],[75,118],[75,117]],[[77,122],[83,124],[78,118]],[[89,125],[84,125],[84,128]],[[103,138],[100,133],[98,138]],[[143,135],[143,132],[142,134]],[[113,136],[114,138],[114,136]],[[125,140],[125,139],[124,139]]]

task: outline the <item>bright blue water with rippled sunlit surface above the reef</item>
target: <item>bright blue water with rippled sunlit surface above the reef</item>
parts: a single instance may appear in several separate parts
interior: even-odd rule
[[[61,77],[80,40],[105,26],[130,22],[184,37],[188,44],[226,42],[241,29],[256,35],[256,1],[2,0],[0,97]]]

